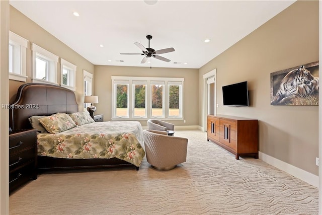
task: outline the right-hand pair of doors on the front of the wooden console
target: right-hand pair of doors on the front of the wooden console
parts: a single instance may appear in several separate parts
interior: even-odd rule
[[[237,150],[236,122],[226,119],[219,121],[219,141],[227,147]]]

